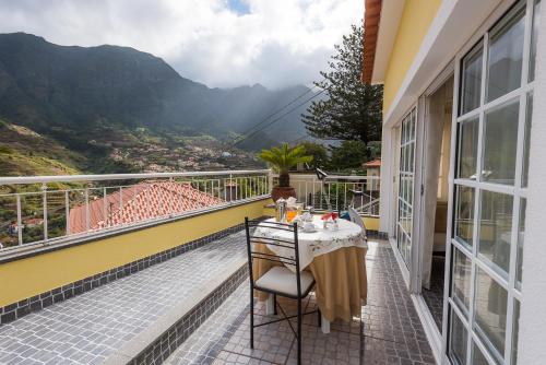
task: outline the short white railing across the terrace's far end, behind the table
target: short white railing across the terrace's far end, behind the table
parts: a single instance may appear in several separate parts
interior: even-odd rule
[[[316,175],[290,174],[299,201],[325,210],[328,198],[334,210],[352,205],[367,216],[379,216],[380,181],[379,176],[329,175],[322,184]]]

